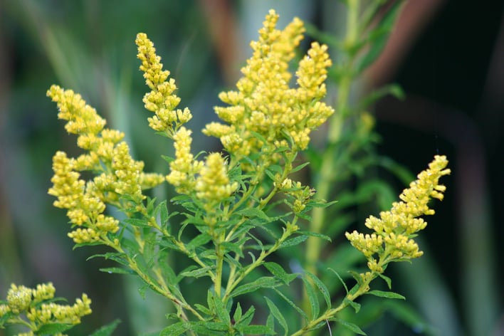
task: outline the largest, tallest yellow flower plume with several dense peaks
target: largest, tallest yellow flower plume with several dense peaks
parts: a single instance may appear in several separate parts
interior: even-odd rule
[[[278,15],[271,10],[259,31],[259,41],[251,43],[253,56],[241,69],[243,78],[236,84],[238,91],[219,95],[230,106],[215,107],[215,112],[229,125],[211,122],[203,131],[219,137],[231,154],[261,152],[261,148],[268,150],[267,144],[305,149],[310,132],[334,112],[320,102],[326,93],[324,81],[331,65],[327,46],[312,44],[295,73],[298,88],[290,88],[292,74],[288,63],[295,56],[305,28],[303,21],[294,19],[279,31],[275,28],[277,21]]]

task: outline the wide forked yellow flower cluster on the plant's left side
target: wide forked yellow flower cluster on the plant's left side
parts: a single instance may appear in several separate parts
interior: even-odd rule
[[[142,189],[162,183],[164,177],[142,172],[144,164],[132,159],[122,141],[124,135],[104,128],[105,120],[80,95],[57,85],[51,86],[47,94],[58,104],[58,117],[67,120],[65,129],[77,134],[78,146],[88,151],[76,159],[56,152],[53,187],[48,193],[58,197],[54,206],[68,209],[73,226],[83,226],[68,234],[75,243],[99,241],[107,233],[119,230],[119,221],[103,214],[106,203],[121,206],[121,196],[140,203],[145,199]],[[83,170],[101,174],[86,182],[80,179],[79,172]]]

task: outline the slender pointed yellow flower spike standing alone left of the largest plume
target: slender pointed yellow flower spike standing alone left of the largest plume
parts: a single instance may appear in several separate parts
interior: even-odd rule
[[[144,72],[145,83],[151,89],[143,98],[145,108],[155,114],[148,118],[149,126],[173,137],[179,127],[191,119],[191,112],[187,107],[184,110],[177,109],[180,98],[174,94],[177,90],[175,80],[170,78],[167,81],[169,71],[162,70],[161,57],[156,55],[152,41],[145,33],[138,33],[135,43],[138,47],[137,58],[142,61],[140,70]]]

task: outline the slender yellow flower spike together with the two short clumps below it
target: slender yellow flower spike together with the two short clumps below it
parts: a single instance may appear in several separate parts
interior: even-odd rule
[[[162,70],[161,58],[156,55],[152,41],[145,33],[137,34],[137,57],[142,61],[140,70],[144,72],[145,83],[151,89],[144,97],[145,108],[154,112],[149,117],[149,126],[174,140],[175,159],[170,162],[167,182],[174,185],[181,194],[196,193],[196,197],[210,210],[219,201],[231,196],[238,187],[229,182],[228,165],[219,153],[212,153],[205,162],[194,159],[191,154],[191,131],[182,126],[191,119],[188,108],[176,109],[180,98],[169,71]]]

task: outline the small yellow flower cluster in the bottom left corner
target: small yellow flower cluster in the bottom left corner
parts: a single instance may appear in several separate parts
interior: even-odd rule
[[[7,303],[0,305],[0,317],[7,313],[26,314],[31,322],[32,330],[36,331],[38,327],[50,323],[76,325],[80,323],[81,317],[91,313],[91,300],[85,294],[82,298],[75,300],[73,305],[44,303],[53,299],[55,292],[56,289],[52,283],[37,285],[35,289],[13,283],[7,293]],[[24,335],[33,335],[33,332]]]

